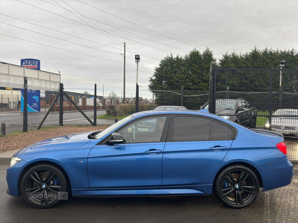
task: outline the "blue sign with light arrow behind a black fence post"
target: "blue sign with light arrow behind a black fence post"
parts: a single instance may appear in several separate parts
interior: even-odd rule
[[[24,89],[21,94],[21,111],[24,111]],[[27,111],[40,111],[40,90],[27,90]]]

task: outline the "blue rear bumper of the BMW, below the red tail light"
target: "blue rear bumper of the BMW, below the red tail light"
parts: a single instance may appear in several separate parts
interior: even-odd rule
[[[287,156],[256,166],[263,180],[263,191],[287,186],[294,175],[293,164]]]

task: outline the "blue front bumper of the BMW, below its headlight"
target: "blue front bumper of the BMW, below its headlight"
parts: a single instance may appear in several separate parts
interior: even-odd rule
[[[6,181],[7,181],[7,190],[9,195],[19,197],[18,192],[18,181],[19,176],[24,169],[28,165],[25,161],[20,161],[17,164],[13,165],[12,167],[8,167],[6,171]]]

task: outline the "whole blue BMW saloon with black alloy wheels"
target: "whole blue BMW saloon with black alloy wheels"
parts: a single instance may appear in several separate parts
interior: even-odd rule
[[[250,130],[208,111],[144,111],[99,132],[30,145],[11,159],[7,193],[36,208],[76,197],[214,193],[244,208],[291,183],[278,133]]]

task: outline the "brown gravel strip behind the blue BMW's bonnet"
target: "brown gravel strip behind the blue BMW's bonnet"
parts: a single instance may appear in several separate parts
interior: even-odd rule
[[[57,137],[80,132],[95,132],[107,128],[108,125],[65,125],[52,128],[40,129],[35,131],[23,132],[19,134],[11,134],[0,137],[0,153],[19,150],[33,143]]]

